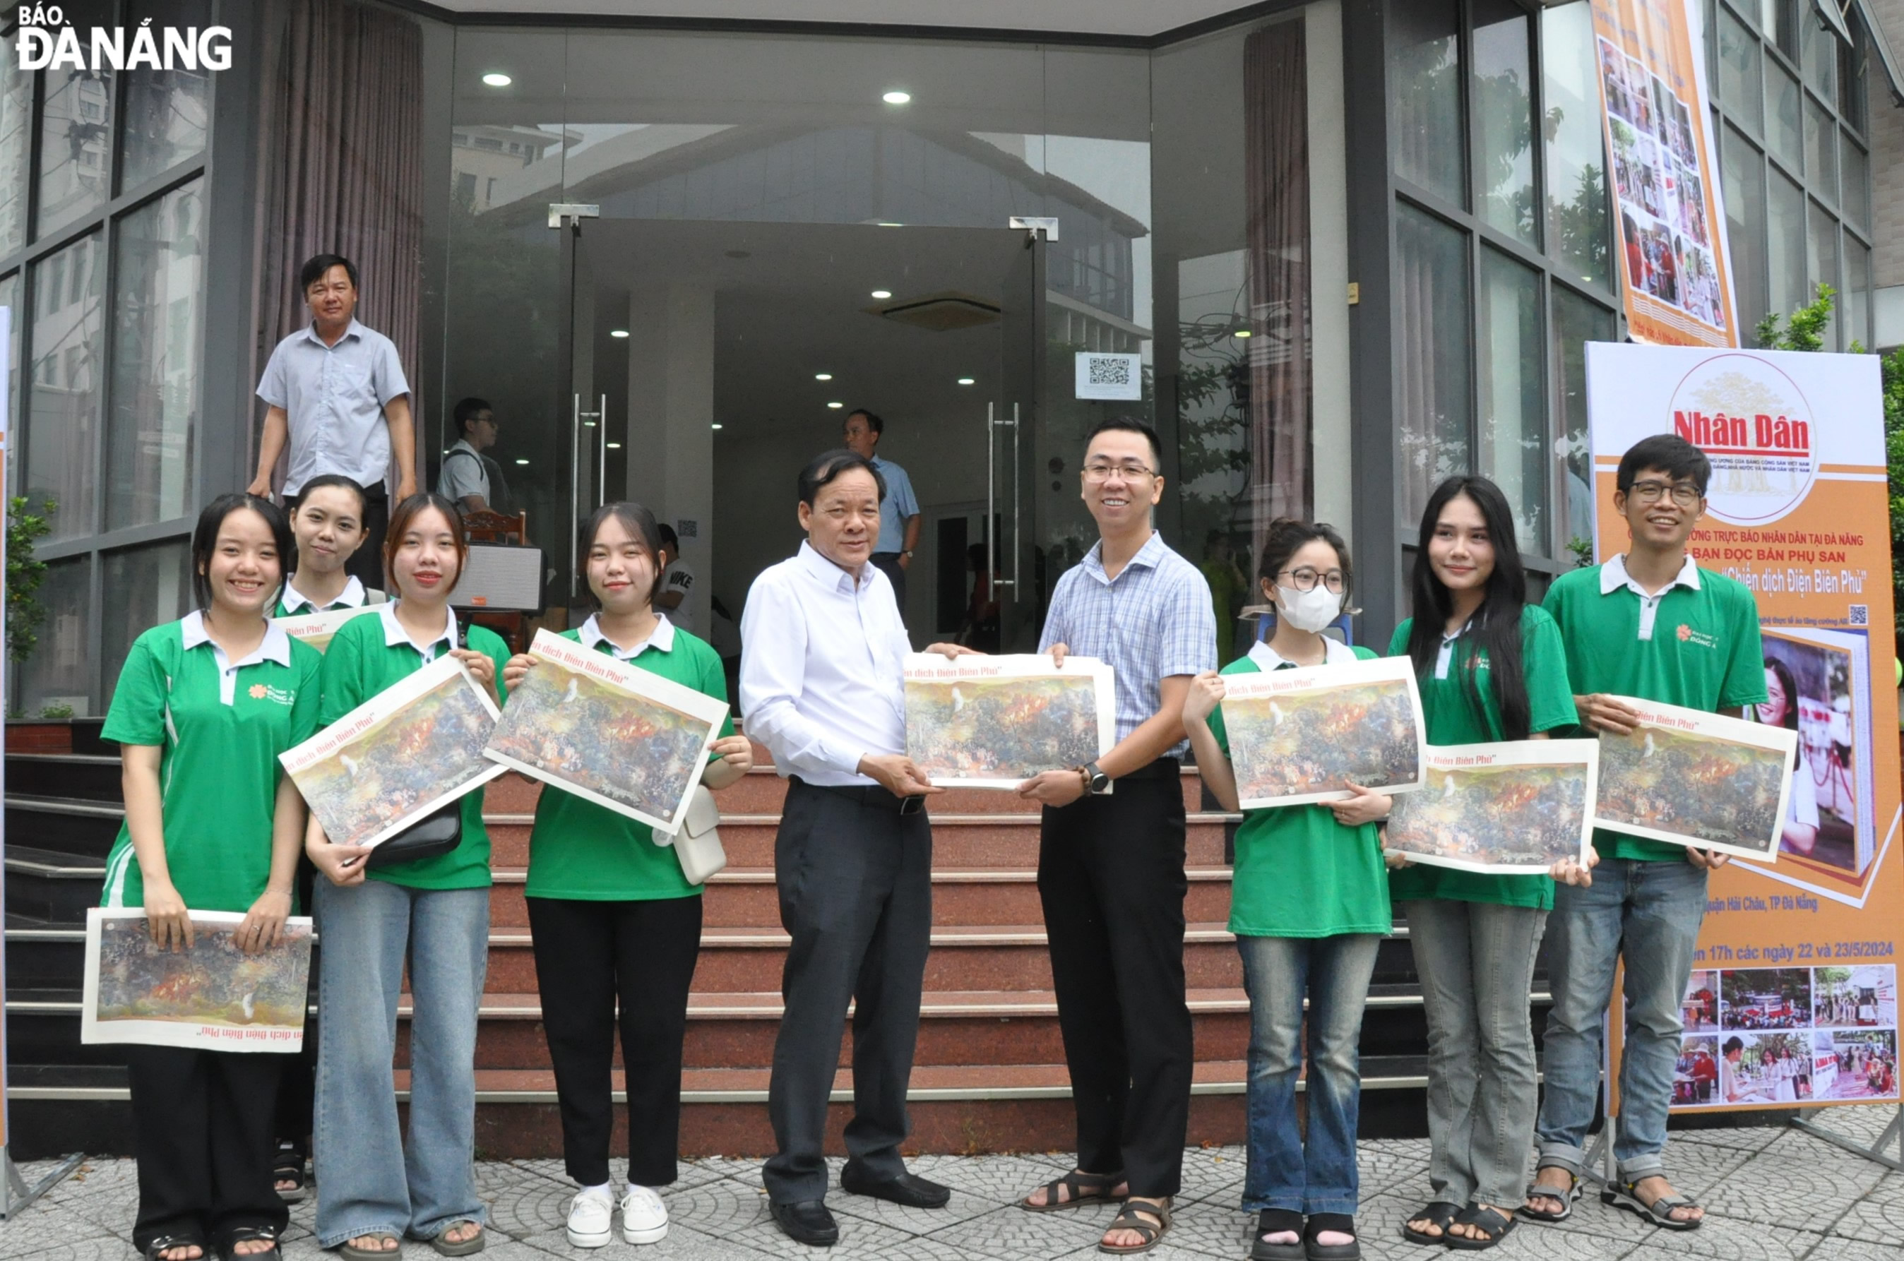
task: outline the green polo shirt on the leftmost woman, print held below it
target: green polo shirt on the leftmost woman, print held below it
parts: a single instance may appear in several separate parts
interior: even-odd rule
[[[192,911],[249,911],[270,880],[278,754],[318,730],[324,655],[272,627],[236,665],[200,613],[152,627],[126,655],[101,735],[158,747],[166,869]],[[101,907],[143,907],[145,880],[120,825]]]

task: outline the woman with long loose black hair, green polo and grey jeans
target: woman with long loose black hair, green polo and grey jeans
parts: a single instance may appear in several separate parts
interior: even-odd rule
[[[1430,745],[1546,739],[1573,726],[1559,629],[1527,604],[1527,571],[1506,495],[1453,476],[1428,497],[1415,552],[1415,615],[1388,655],[1409,657]],[[1550,872],[1483,876],[1396,859],[1390,895],[1409,924],[1428,1017],[1428,1185],[1401,1234],[1417,1244],[1493,1248],[1514,1229],[1535,1139],[1535,1034],[1527,1015]]]

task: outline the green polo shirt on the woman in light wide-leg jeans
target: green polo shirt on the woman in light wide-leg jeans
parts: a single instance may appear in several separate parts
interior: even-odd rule
[[[352,617],[337,629],[324,651],[324,707],[318,712],[324,726],[449,650],[447,615],[444,636],[432,642],[426,653],[417,650],[400,627],[394,632],[392,627],[396,627],[396,602],[379,606],[375,615]],[[508,646],[486,627],[466,627],[465,638],[468,648],[495,661],[495,690],[497,695],[505,695],[503,663],[508,661]],[[482,825],[482,789],[463,796],[463,844],[455,850],[415,863],[371,867],[367,876],[411,890],[489,888],[489,832]]]

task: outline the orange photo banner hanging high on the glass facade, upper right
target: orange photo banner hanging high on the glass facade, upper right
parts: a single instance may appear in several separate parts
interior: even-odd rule
[[[1696,0],[1594,0],[1599,114],[1634,341],[1736,347]]]

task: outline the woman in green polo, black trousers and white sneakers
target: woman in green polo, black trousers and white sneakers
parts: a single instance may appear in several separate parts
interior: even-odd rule
[[[588,518],[581,543],[598,611],[564,638],[725,701],[720,655],[655,611],[661,530],[653,512],[609,503]],[[514,686],[533,667],[529,655],[510,657],[503,676]],[[754,764],[750,749],[725,722],[703,783],[720,789],[744,775]],[[562,1154],[581,1187],[567,1221],[577,1248],[607,1244],[617,1227],[609,1181],[617,1000],[628,1088],[628,1185],[619,1196],[619,1229],[630,1244],[653,1244],[668,1232],[655,1187],[676,1177],[701,886],[689,884],[674,850],[655,840],[647,825],[562,789],[545,787],[535,806],[529,931],[562,1105]]]

